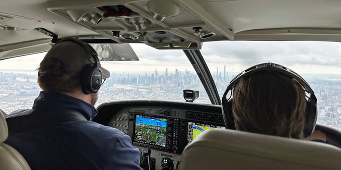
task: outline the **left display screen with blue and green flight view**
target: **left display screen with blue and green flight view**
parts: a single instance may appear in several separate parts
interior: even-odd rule
[[[134,141],[156,146],[166,146],[167,119],[135,115]]]

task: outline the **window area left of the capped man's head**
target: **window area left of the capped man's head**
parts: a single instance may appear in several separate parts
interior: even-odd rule
[[[0,108],[10,113],[32,108],[41,91],[36,69],[46,52],[0,61]]]

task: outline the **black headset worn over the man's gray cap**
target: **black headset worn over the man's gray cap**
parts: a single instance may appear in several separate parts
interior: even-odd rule
[[[88,43],[75,39],[75,38],[61,39],[54,46],[65,41],[70,41],[70,42],[74,42],[74,43],[81,45],[85,49],[86,54],[89,55],[88,56],[89,62],[91,62],[90,58],[93,58],[94,63],[86,64],[83,70],[81,71],[81,88],[85,94],[96,93],[102,85],[102,77],[103,77],[101,64],[99,63],[99,59],[97,57],[97,52]],[[52,48],[54,46],[52,46]],[[56,74],[56,71],[51,70],[46,73]],[[38,76],[39,75],[40,73],[38,73]]]

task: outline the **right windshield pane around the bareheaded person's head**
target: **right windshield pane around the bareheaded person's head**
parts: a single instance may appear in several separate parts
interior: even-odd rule
[[[300,74],[317,97],[317,123],[341,129],[341,43],[324,41],[206,42],[201,53],[220,98],[241,71],[263,62]]]

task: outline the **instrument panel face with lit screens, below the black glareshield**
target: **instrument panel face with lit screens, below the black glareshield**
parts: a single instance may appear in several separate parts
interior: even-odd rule
[[[222,122],[215,113],[142,107],[119,112],[107,125],[128,134],[133,145],[181,154],[201,132],[226,128]]]

